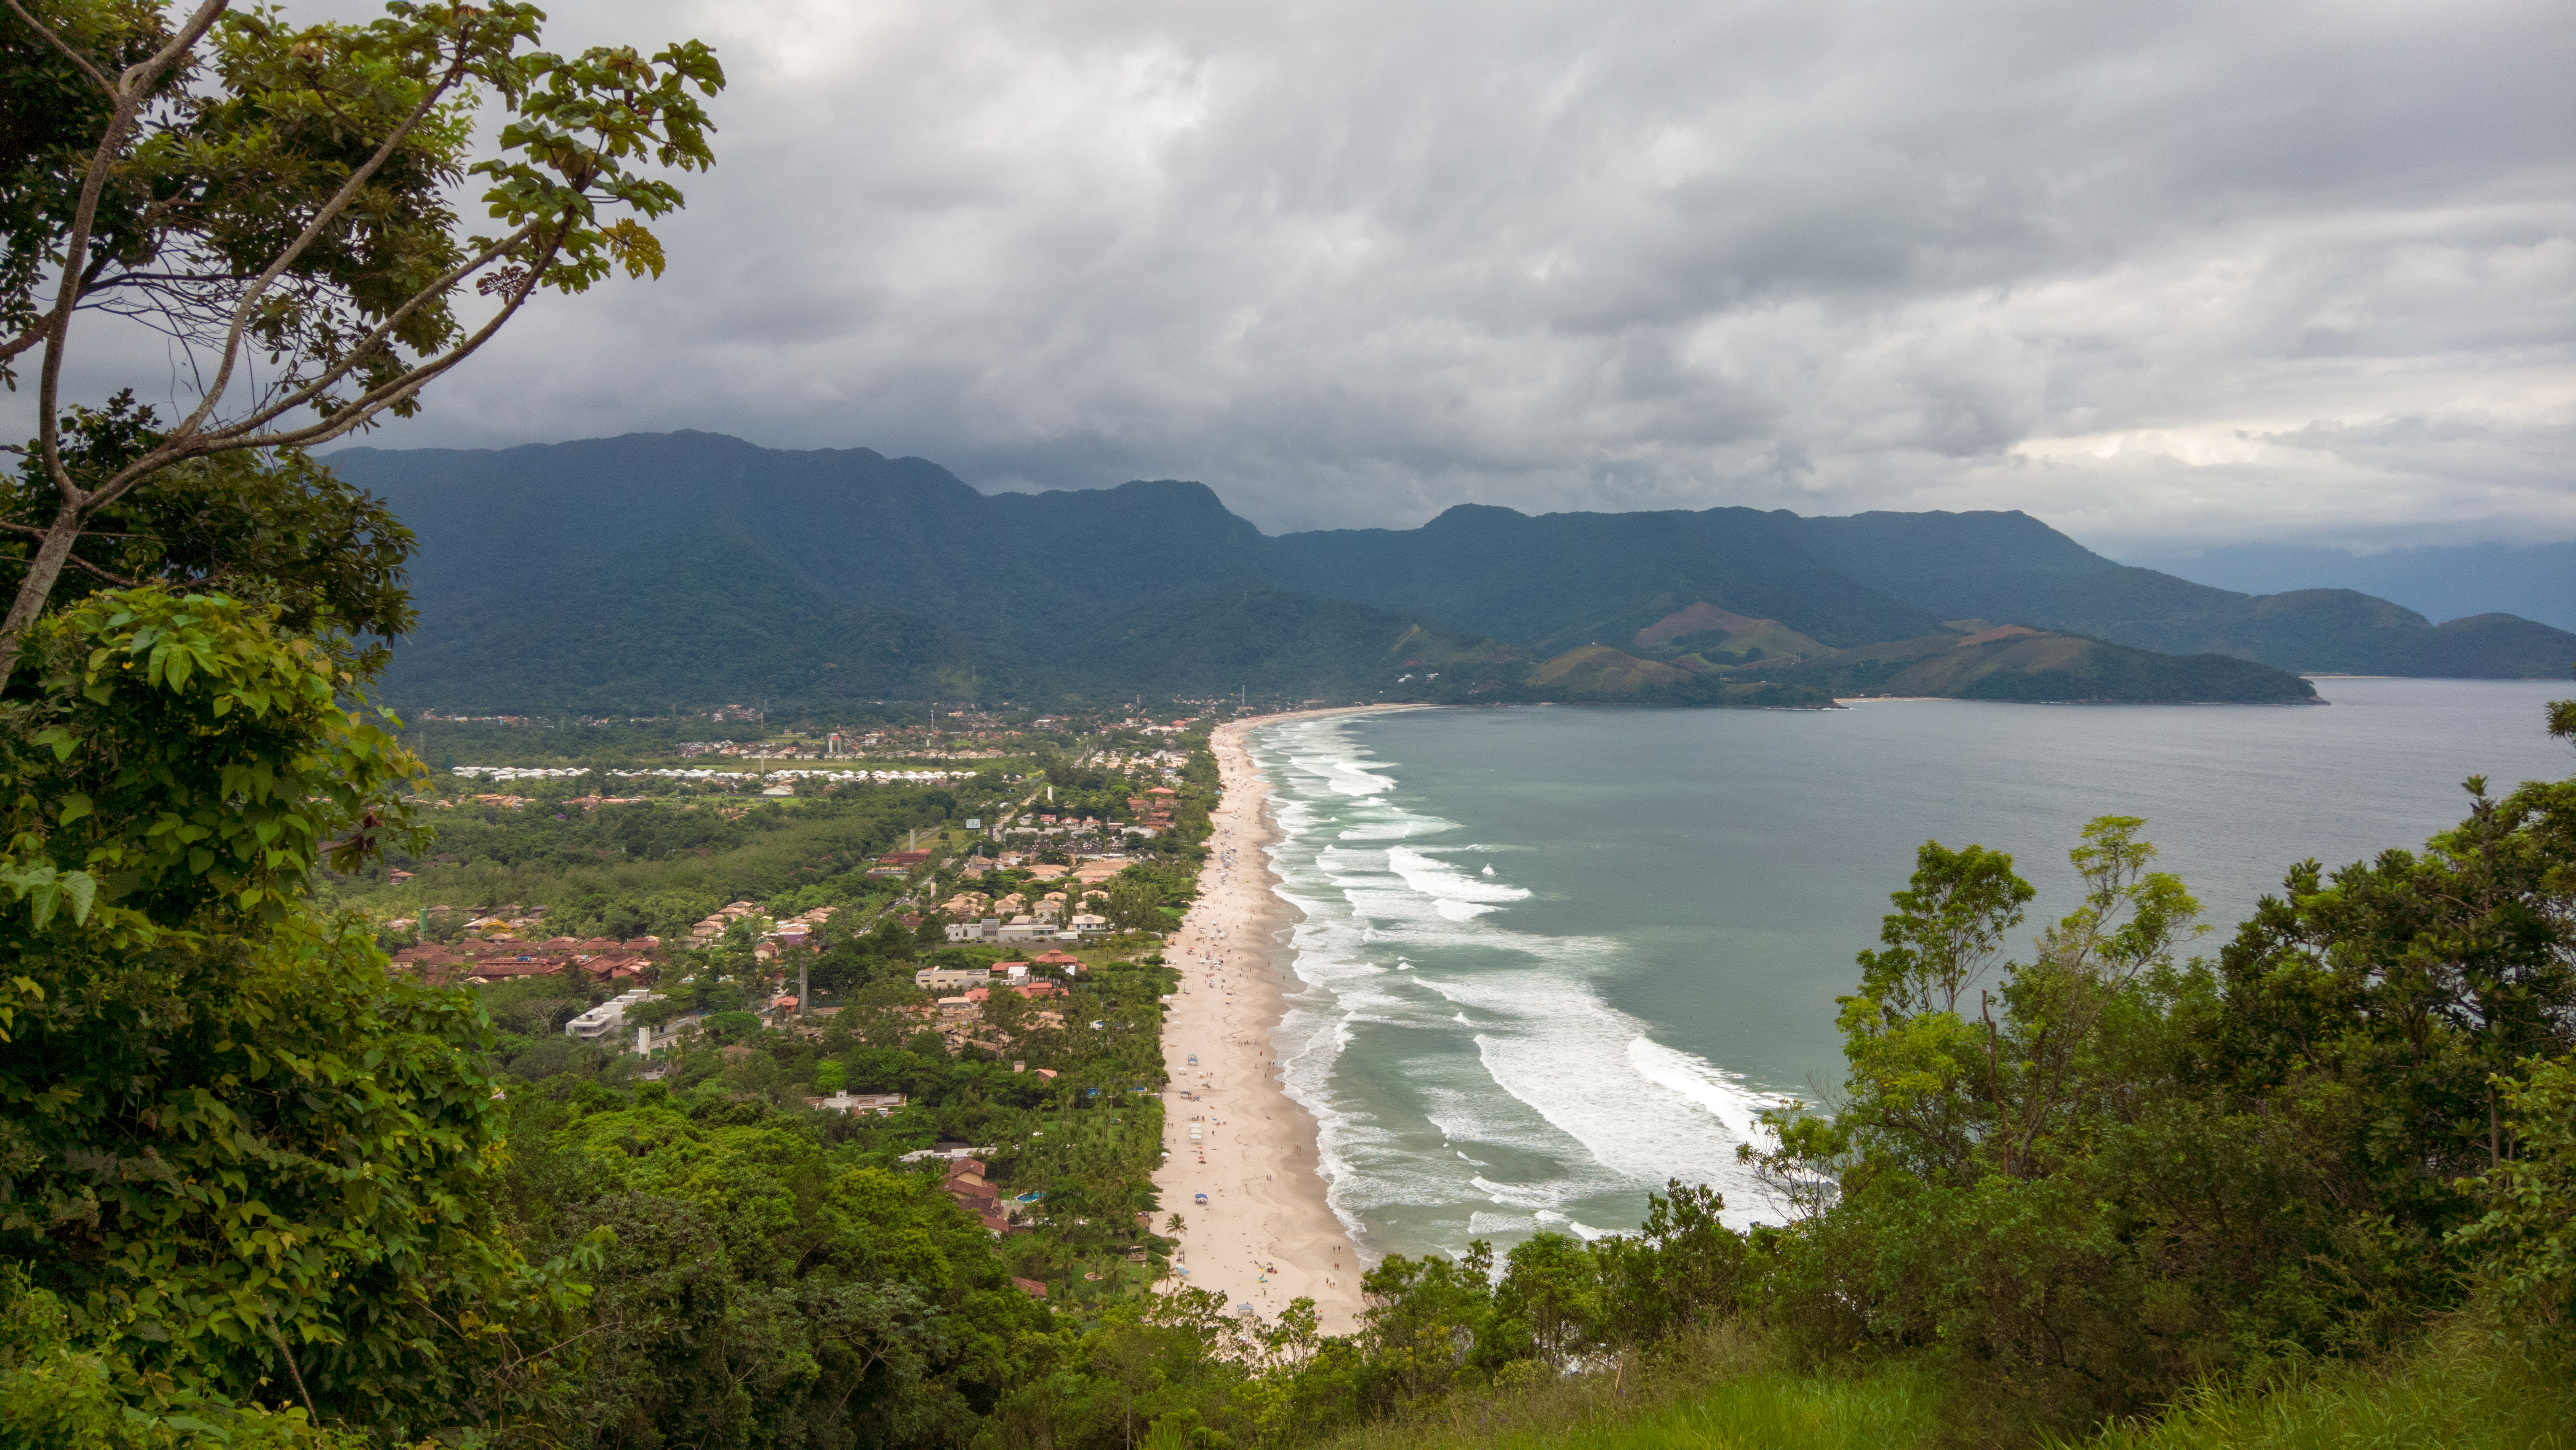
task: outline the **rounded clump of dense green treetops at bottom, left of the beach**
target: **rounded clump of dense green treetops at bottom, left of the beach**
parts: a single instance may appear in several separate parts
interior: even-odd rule
[[[966,1440],[1043,1352],[1046,1311],[930,1180],[866,1167],[811,1120],[734,1123],[714,1102],[518,1113],[523,1226],[549,1252],[611,1239],[564,1429],[582,1445]]]

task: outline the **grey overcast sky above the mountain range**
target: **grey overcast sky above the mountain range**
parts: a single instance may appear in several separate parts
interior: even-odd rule
[[[2566,0],[549,10],[714,44],[719,167],[376,443],[2576,538]]]

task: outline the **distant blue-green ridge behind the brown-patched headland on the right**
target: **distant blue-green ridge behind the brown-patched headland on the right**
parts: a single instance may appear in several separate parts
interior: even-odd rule
[[[1625,639],[1710,603],[1844,649],[1981,618],[2308,672],[2555,677],[2576,662],[2576,634],[2517,616],[2434,626],[2352,590],[2213,590],[2115,564],[2025,513],[1453,507],[1414,531],[1291,533],[1270,556],[1291,587],[1540,652]]]

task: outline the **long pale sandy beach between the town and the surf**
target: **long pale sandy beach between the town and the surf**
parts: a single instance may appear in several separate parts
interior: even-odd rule
[[[1324,1203],[1314,1118],[1280,1087],[1270,1043],[1285,1012],[1280,963],[1296,912],[1273,891],[1262,852],[1275,837],[1270,783],[1255,773],[1242,737],[1280,719],[1293,716],[1216,726],[1208,744],[1224,801],[1198,901],[1164,943],[1182,984],[1162,1028],[1172,1087],[1154,1187],[1162,1213],[1185,1223],[1164,1283],[1224,1293],[1262,1319],[1311,1298],[1321,1329],[1347,1334],[1360,1316],[1363,1262]]]

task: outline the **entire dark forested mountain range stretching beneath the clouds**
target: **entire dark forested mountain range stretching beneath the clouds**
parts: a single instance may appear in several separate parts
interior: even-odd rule
[[[984,494],[922,458],[711,433],[330,464],[420,538],[420,626],[384,695],[471,713],[1234,690],[2298,701],[2293,672],[2576,662],[2576,634],[2517,616],[2215,590],[2022,513],[1461,505],[1265,536],[1193,482]]]

